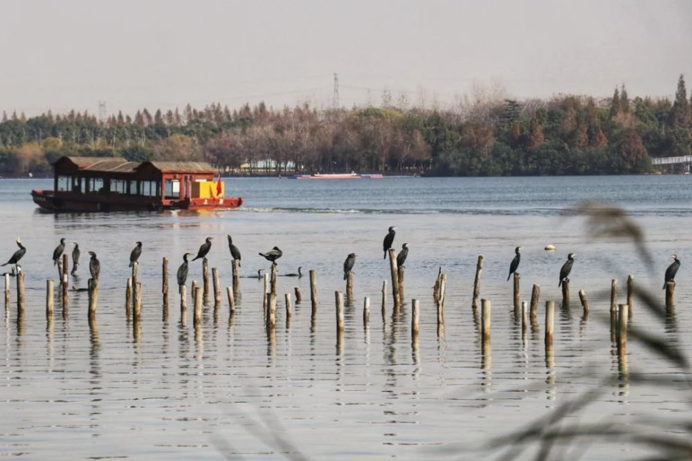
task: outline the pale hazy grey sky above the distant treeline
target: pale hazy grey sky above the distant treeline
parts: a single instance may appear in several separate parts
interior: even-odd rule
[[[0,111],[692,87],[692,1],[0,0]]]

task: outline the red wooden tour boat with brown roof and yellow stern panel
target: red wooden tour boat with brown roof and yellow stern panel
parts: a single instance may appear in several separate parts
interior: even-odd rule
[[[31,196],[51,211],[231,209],[242,197],[226,197],[224,182],[206,162],[128,162],[115,157],[61,157],[54,189]]]

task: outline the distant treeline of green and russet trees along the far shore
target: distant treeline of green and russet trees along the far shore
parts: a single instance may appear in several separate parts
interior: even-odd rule
[[[474,97],[454,109],[379,107],[152,112],[3,113],[0,174],[49,173],[64,155],[206,160],[235,173],[370,171],[438,176],[618,174],[650,171],[650,157],[692,154],[692,101],[682,75],[675,100],[562,95]]]

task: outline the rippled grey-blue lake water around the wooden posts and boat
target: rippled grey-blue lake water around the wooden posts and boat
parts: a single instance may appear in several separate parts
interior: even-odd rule
[[[113,214],[49,214],[30,200],[48,180],[0,181],[0,257],[28,248],[26,319],[12,305],[0,328],[0,456],[24,459],[244,459],[401,460],[480,459],[468,452],[492,438],[526,427],[552,408],[592,388],[594,404],[568,422],[642,418],[673,420],[689,404],[689,375],[637,341],[628,344],[630,372],[674,374],[666,388],[629,382],[610,341],[610,280],[627,274],[663,301],[663,273],[676,253],[677,312],[664,325],[634,306],[632,326],[649,328],[689,350],[692,315],[692,177],[587,178],[385,178],[356,181],[230,179],[227,194],[243,196],[236,211]],[[628,210],[646,229],[655,272],[624,239],[592,241],[583,218],[565,209],[581,200],[603,200]],[[394,244],[407,242],[406,303],[392,316],[388,297],[381,315],[381,283],[389,281],[382,240],[397,226]],[[184,252],[215,238],[208,256],[230,285],[226,234],[243,254],[242,274],[268,263],[257,255],[277,245],[284,251],[279,274],[314,269],[318,317],[311,328],[309,278],[278,279],[277,330],[268,338],[262,314],[262,282],[242,279],[237,313],[229,320],[225,297],[217,316],[204,308],[203,326],[179,323],[174,274]],[[69,317],[60,303],[46,326],[46,279],[57,270],[51,255],[60,237],[82,249],[78,277],[86,287],[86,251],[102,270],[98,331],[86,320],[86,293],[72,293]],[[124,309],[129,252],[143,242],[140,331]],[[556,252],[545,252],[547,244]],[[506,281],[513,249],[522,245],[521,296],[541,286],[539,326],[522,341],[513,317],[512,285]],[[355,301],[346,308],[346,329],[336,347],[334,291],[344,290],[342,265],[358,254]],[[558,272],[568,252],[577,254],[570,276],[572,308],[559,308]],[[491,357],[482,357],[471,310],[478,254],[485,257],[482,297],[491,299]],[[161,315],[161,258],[171,260],[171,306]],[[437,334],[432,285],[439,267],[448,274],[442,335]],[[201,263],[190,277],[201,281]],[[283,294],[299,286],[290,328]],[[582,319],[577,292],[591,305]],[[188,288],[188,296],[189,296]],[[370,297],[363,328],[363,297]],[[410,334],[410,299],[421,302],[417,345]],[[556,302],[554,361],[543,346],[543,303]],[[623,301],[621,301],[623,302]],[[417,347],[415,347],[417,346]],[[485,365],[484,367],[482,365]],[[599,384],[603,379],[614,382]],[[668,429],[670,435],[677,435]],[[665,433],[665,431],[662,431]],[[646,453],[640,446],[599,440],[579,446],[583,458],[612,460]],[[569,459],[556,451],[552,459]],[[290,454],[291,452],[293,454]],[[493,452],[494,453],[494,452]]]

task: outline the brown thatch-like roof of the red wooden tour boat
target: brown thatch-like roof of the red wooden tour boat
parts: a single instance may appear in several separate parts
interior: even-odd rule
[[[151,165],[161,172],[195,171],[199,173],[215,173],[216,171],[207,162],[128,162],[124,158],[118,157],[64,156],[55,160],[55,163],[53,164],[62,164],[64,162],[70,162],[80,170],[104,171],[109,173],[130,173],[147,165]]]

